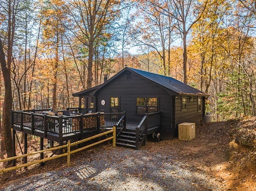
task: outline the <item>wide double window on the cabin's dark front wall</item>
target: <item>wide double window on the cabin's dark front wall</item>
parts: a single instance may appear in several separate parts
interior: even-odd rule
[[[157,112],[157,98],[137,98],[136,113],[154,113]]]

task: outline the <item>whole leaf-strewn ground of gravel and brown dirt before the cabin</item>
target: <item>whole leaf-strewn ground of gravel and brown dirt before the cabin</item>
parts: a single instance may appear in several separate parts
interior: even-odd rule
[[[256,191],[255,168],[228,159],[233,125],[214,122],[197,127],[191,141],[148,141],[140,150],[95,147],[72,156],[70,168],[56,160],[0,174],[0,189]]]

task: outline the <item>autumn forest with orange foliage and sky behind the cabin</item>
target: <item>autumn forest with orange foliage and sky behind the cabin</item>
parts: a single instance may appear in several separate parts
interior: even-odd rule
[[[0,0],[0,62],[0,140],[11,110],[78,106],[126,65],[204,91],[214,121],[255,116],[256,2]]]

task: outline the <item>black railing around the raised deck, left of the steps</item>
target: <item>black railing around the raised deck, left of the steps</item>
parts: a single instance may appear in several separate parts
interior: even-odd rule
[[[76,108],[75,108],[76,109]],[[35,111],[35,110],[34,110]],[[41,110],[43,111],[43,110]],[[44,110],[45,111],[45,110]],[[49,110],[48,110],[49,111]],[[74,111],[71,109],[70,111]],[[54,111],[53,111],[54,112]],[[83,134],[86,132],[100,131],[100,128],[123,128],[126,124],[125,112],[121,113],[91,113],[63,116],[62,112],[56,112],[59,116],[37,114],[30,111],[12,111],[12,127],[15,130],[26,133],[40,134],[40,137],[52,135],[58,138]],[[116,125],[118,124],[118,125]]]

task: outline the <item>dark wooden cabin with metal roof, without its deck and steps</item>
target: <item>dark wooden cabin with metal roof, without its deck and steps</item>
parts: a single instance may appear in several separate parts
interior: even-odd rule
[[[160,133],[163,139],[177,137],[178,124],[182,122],[202,125],[207,97],[172,77],[130,67],[110,79],[104,75],[103,84],[73,96],[79,97],[79,106],[86,112],[126,112],[126,122],[135,126],[146,116],[146,134]]]

